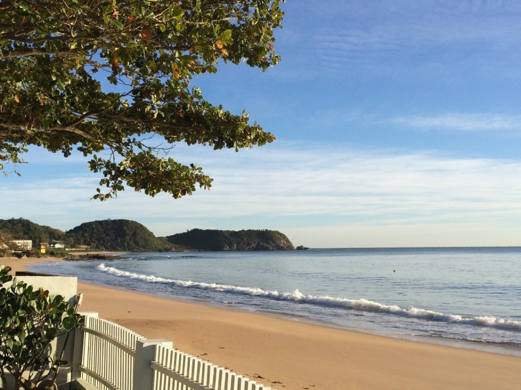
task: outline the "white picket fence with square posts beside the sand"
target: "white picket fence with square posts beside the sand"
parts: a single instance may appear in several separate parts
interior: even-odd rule
[[[75,333],[73,388],[83,390],[271,390],[242,375],[190,356],[168,340],[147,340],[85,314]]]

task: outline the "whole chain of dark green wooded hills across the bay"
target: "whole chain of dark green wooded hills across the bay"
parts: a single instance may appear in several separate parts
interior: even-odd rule
[[[295,249],[286,235],[276,230],[192,229],[168,237],[156,237],[142,224],[128,219],[105,219],[83,223],[66,232],[24,218],[0,219],[0,238],[33,240],[37,244],[61,243],[68,249],[118,252],[168,251],[267,251]],[[9,242],[5,240],[5,242]],[[1,242],[0,242],[1,243]],[[13,245],[10,245],[13,247]],[[49,255],[65,257],[65,249]],[[70,253],[70,252],[69,252]],[[25,255],[31,255],[24,252]],[[39,250],[33,249],[33,255]]]

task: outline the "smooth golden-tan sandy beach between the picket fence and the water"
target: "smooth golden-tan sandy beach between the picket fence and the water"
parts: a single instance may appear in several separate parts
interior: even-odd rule
[[[26,270],[39,259],[0,259]],[[521,358],[404,341],[79,283],[96,311],[277,389],[508,389]]]

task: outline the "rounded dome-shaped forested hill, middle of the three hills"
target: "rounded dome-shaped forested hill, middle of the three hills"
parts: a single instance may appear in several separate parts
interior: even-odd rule
[[[105,219],[85,222],[67,231],[76,244],[93,250],[124,252],[160,252],[173,249],[168,241],[154,236],[138,222],[128,219]]]

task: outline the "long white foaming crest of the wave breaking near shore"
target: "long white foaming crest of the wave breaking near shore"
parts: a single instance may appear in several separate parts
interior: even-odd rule
[[[299,290],[295,290],[290,293],[266,291],[260,288],[252,287],[239,287],[230,284],[203,283],[193,282],[190,280],[173,280],[156,277],[152,275],[139,275],[134,274],[133,272],[121,271],[114,267],[106,267],[105,264],[98,265],[96,269],[111,276],[117,276],[132,280],[140,280],[148,283],[165,283],[183,288],[195,288],[199,290],[212,290],[232,294],[260,296],[263,298],[269,298],[277,301],[299,302],[313,304],[317,306],[342,307],[364,311],[375,311],[378,313],[388,313],[396,316],[420,318],[431,321],[461,323],[472,326],[521,331],[521,321],[497,318],[492,316],[464,317],[459,315],[438,313],[437,311],[432,310],[418,309],[416,307],[402,308],[397,305],[384,305],[378,302],[366,300],[364,298],[358,300],[351,300],[348,298],[334,298],[327,295],[304,295]]]

